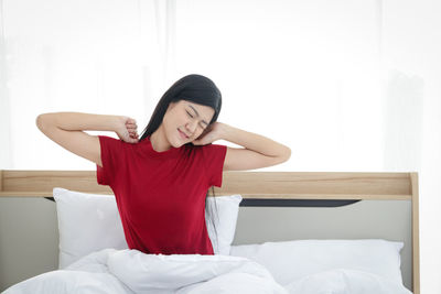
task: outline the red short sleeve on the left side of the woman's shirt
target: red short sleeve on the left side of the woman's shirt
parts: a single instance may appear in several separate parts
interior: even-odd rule
[[[122,166],[123,145],[122,141],[108,135],[98,135],[101,151],[103,167],[98,164],[97,182],[100,185],[111,185],[116,177],[117,171]]]

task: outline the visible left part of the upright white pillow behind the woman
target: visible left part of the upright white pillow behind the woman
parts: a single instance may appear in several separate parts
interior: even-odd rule
[[[55,187],[58,218],[58,269],[93,251],[128,249],[114,195],[97,195]]]

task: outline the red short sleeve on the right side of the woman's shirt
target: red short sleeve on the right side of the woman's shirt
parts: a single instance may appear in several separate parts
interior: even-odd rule
[[[226,145],[209,144],[204,146],[204,161],[207,168],[208,186],[222,186]]]

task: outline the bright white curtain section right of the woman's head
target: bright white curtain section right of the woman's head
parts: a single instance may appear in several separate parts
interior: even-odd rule
[[[383,167],[376,1],[193,0],[176,11],[178,75],[214,77],[220,119],[291,146],[289,163],[267,170]]]

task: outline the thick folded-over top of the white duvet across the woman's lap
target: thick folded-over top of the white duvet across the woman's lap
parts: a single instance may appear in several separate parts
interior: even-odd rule
[[[120,250],[109,254],[107,264],[109,272],[135,293],[226,293],[227,285],[228,293],[287,293],[263,265],[240,257]],[[192,290],[184,288],[190,285]]]

